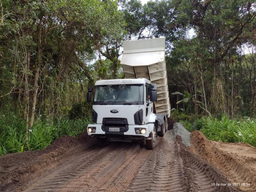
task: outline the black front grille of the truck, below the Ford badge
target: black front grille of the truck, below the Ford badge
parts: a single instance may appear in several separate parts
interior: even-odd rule
[[[128,131],[128,122],[126,118],[103,118],[101,129],[104,132],[109,132],[109,127],[118,127],[120,132]],[[113,132],[109,132],[113,133]]]

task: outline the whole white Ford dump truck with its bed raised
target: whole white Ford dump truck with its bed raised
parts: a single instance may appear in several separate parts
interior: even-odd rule
[[[165,65],[165,38],[124,41],[121,59],[125,79],[96,81],[88,135],[100,142],[146,141],[156,147],[167,131],[170,100]],[[94,89],[95,87],[95,89]]]

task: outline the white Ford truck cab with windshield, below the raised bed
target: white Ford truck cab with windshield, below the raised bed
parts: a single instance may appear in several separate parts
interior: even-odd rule
[[[127,142],[148,139],[151,132],[157,136],[159,122],[153,113],[156,86],[145,78],[97,81],[92,105],[95,124],[88,125],[88,135]]]

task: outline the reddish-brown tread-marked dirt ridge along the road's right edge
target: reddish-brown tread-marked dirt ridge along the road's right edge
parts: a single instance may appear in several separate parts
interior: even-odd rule
[[[192,152],[217,167],[240,191],[256,191],[256,175],[251,164],[246,164],[243,159],[231,155],[230,151],[216,148],[212,141],[207,140],[199,131],[191,133],[191,143],[193,147],[189,149]],[[253,152],[252,150],[251,153]]]

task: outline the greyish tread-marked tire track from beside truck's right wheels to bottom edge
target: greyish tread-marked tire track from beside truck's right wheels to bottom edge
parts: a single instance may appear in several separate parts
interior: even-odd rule
[[[172,131],[158,140],[160,143],[141,166],[127,191],[184,191],[182,159],[175,152]]]

